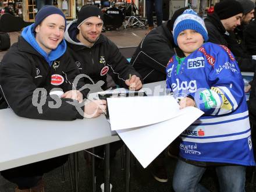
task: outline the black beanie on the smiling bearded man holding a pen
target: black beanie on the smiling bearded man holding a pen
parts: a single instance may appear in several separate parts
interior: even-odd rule
[[[89,17],[98,17],[99,19],[103,20],[103,13],[101,9],[95,5],[82,6],[78,13],[77,27],[79,27],[84,22],[84,20],[88,19]]]

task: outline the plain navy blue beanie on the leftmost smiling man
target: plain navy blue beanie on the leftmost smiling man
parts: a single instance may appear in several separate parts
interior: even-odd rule
[[[66,17],[61,9],[56,8],[56,6],[53,5],[45,5],[43,6],[35,15],[35,23],[34,23],[34,29],[40,24],[46,17],[49,15],[58,14],[61,15],[65,19],[65,29],[66,29]]]

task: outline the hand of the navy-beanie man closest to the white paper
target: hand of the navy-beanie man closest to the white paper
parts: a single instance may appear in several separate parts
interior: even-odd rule
[[[96,118],[106,111],[105,100],[93,100],[84,105],[84,117]]]

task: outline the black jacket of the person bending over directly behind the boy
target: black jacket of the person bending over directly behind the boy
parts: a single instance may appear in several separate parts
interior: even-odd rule
[[[166,65],[175,54],[173,36],[163,23],[148,33],[131,58],[131,65],[143,77],[144,83],[166,79]]]

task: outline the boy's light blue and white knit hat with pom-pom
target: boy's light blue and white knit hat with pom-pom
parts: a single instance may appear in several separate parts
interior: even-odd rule
[[[191,29],[195,30],[202,35],[204,41],[208,41],[208,33],[207,29],[205,28],[204,20],[197,13],[194,12],[192,9],[184,10],[182,15],[177,17],[173,26],[173,40],[176,45],[177,44],[177,37],[180,32]]]

